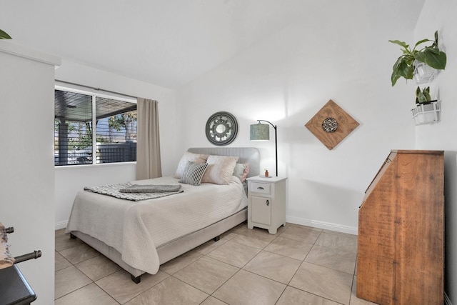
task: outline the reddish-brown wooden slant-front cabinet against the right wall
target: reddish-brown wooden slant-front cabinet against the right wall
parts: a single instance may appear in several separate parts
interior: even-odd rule
[[[443,304],[443,171],[443,151],[388,155],[358,211],[358,298]]]

